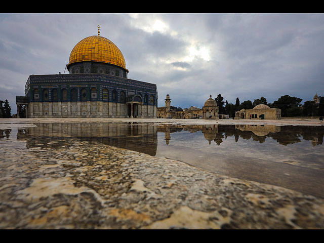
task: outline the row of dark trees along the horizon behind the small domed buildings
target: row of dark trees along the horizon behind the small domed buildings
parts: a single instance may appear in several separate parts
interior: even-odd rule
[[[281,109],[281,116],[324,116],[324,97],[318,97],[319,103],[315,103],[312,100],[305,101],[301,104],[302,99],[297,97],[291,97],[289,95],[284,95],[278,98],[278,100],[273,101],[273,103],[268,103],[267,99],[260,97],[260,99],[255,99],[253,102],[251,100],[245,100],[239,102],[238,97],[236,98],[235,104],[228,103],[227,100],[224,102],[224,98],[219,94],[215,101],[219,107],[219,114],[227,114],[229,117],[234,117],[235,112],[241,109],[253,109],[255,106],[264,104],[270,108]]]

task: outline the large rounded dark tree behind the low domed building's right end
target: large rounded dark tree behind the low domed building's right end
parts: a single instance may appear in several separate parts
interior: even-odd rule
[[[273,101],[272,107],[281,109],[281,116],[298,116],[301,115],[300,102],[300,98],[284,95]]]

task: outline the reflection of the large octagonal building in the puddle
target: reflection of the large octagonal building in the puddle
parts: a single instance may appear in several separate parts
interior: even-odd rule
[[[157,128],[150,124],[118,123],[55,123],[37,124],[37,127],[19,132],[17,139],[33,138],[27,146],[46,143],[47,138],[78,138],[106,145],[142,152],[154,156],[157,148]],[[29,145],[28,145],[29,144]],[[67,145],[69,141],[67,141]],[[48,144],[48,146],[51,146]]]

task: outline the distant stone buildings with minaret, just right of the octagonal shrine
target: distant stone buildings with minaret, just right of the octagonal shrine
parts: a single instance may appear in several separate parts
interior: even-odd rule
[[[203,110],[194,106],[184,109],[182,109],[181,107],[173,109],[173,106],[171,106],[171,99],[169,94],[167,94],[165,103],[166,106],[157,107],[157,118],[190,119],[203,116]]]

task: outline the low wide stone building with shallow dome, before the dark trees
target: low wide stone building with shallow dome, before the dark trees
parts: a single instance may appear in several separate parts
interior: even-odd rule
[[[253,109],[236,111],[234,119],[281,119],[281,110],[261,104]]]

